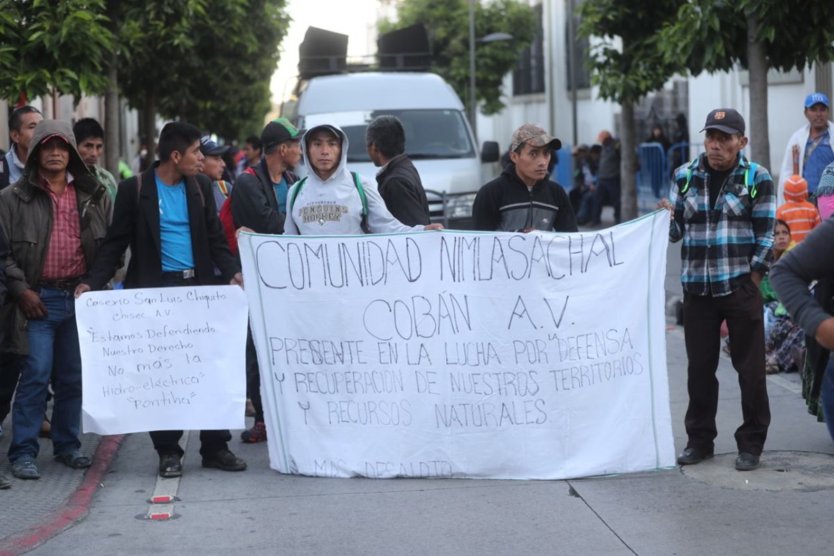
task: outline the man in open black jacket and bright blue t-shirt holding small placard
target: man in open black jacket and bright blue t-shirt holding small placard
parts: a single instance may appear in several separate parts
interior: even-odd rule
[[[130,246],[125,288],[160,288],[216,283],[214,267],[224,281],[243,285],[240,266],[229,251],[209,178],[199,174],[203,153],[200,130],[189,123],[168,123],[159,134],[159,162],[137,178],[119,184],[113,224],[93,268],[75,291],[78,298],[101,289],[113,277]],[[183,473],[183,431],[151,431],[159,454],[159,475]],[[200,432],[203,467],[243,471],[244,460],[229,451],[228,430]]]

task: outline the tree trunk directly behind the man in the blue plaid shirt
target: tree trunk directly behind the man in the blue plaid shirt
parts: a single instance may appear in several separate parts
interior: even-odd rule
[[[750,70],[749,158],[771,169],[771,140],[767,128],[767,56],[765,44],[756,37],[761,22],[755,13],[747,15],[747,64]]]

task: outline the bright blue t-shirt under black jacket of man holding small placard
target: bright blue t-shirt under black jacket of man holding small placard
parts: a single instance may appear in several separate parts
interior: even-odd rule
[[[162,242],[163,273],[194,268],[191,249],[191,223],[185,198],[185,181],[176,185],[163,183],[156,173],[159,196],[159,238]]]

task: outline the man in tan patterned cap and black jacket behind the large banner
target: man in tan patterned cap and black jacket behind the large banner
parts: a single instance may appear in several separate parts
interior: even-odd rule
[[[568,194],[547,178],[550,149],[562,143],[535,123],[513,132],[510,164],[475,196],[472,227],[488,232],[576,232]]]

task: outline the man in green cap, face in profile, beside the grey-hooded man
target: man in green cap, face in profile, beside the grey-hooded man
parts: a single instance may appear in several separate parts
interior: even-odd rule
[[[287,193],[296,181],[289,171],[301,161],[301,134],[287,118],[266,124],[261,133],[264,158],[240,174],[230,198],[234,228],[249,228],[254,233],[284,233],[287,218]],[[255,423],[240,433],[247,443],[264,442],[264,403],[260,397],[258,356],[251,330],[246,338],[246,395],[252,400]]]

